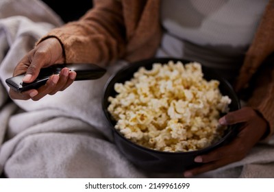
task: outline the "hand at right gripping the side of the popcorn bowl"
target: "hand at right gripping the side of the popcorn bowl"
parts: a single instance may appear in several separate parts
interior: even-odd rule
[[[266,120],[250,107],[229,112],[219,119],[219,123],[221,125],[240,123],[240,130],[236,138],[231,143],[219,147],[208,154],[197,156],[195,162],[203,163],[203,165],[185,171],[185,177],[192,177],[242,160],[242,158],[247,156],[251,148],[262,139],[268,128]]]

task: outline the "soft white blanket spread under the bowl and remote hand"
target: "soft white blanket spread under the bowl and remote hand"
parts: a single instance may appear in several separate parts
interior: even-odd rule
[[[146,173],[129,163],[112,143],[101,110],[105,81],[75,82],[40,101],[11,101],[5,79],[34,43],[60,17],[36,0],[0,1],[0,174],[8,178],[182,177]],[[272,145],[254,147],[247,158],[204,173],[201,178],[274,178]]]

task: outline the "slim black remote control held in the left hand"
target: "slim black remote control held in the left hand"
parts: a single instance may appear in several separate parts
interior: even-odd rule
[[[5,82],[10,86],[10,88],[15,91],[22,92],[29,89],[37,89],[40,86],[46,84],[49,77],[54,74],[59,74],[60,71],[67,67],[71,71],[77,73],[75,81],[79,80],[95,80],[102,77],[106,70],[97,66],[96,64],[91,63],[75,63],[75,64],[54,64],[51,67],[42,68],[36,80],[31,83],[22,82],[22,79],[25,74],[18,75],[16,77],[10,77]]]

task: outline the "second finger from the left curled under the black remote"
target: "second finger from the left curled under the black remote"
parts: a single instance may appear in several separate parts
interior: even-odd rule
[[[47,80],[47,83],[44,86],[38,88],[38,95],[32,97],[32,100],[38,101],[42,97],[45,97],[45,95],[48,95],[49,93],[53,92],[56,88],[58,80],[59,75],[51,75],[51,77],[49,77],[49,80]]]

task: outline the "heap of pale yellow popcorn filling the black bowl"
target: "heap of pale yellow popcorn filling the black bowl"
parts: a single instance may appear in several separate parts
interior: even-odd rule
[[[219,81],[203,78],[201,64],[154,63],[140,67],[118,93],[109,97],[115,128],[139,145],[164,152],[190,152],[221,138],[218,123],[231,99],[221,95]]]

